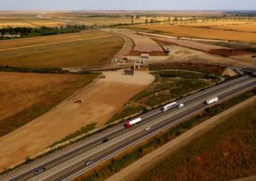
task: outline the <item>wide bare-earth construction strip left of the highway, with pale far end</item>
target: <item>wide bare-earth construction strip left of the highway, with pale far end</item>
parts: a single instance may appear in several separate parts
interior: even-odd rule
[[[109,71],[106,78],[90,84],[73,97],[7,136],[0,137],[0,169],[21,162],[88,123],[103,125],[129,98],[154,81],[146,71],[134,76]],[[82,104],[74,104],[81,99]]]

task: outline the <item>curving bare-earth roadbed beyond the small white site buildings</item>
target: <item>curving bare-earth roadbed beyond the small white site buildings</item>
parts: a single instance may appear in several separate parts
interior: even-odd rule
[[[133,41],[132,52],[137,53],[138,55],[141,53],[165,55],[163,48],[150,37],[141,36],[129,30],[114,30],[114,32],[127,36],[131,39]]]

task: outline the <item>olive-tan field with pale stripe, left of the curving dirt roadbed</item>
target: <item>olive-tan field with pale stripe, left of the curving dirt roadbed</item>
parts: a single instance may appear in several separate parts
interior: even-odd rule
[[[0,41],[0,65],[27,68],[93,67],[108,63],[124,41],[97,30]]]

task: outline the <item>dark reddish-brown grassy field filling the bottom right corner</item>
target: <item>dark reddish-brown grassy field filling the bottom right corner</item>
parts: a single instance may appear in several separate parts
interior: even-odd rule
[[[255,112],[256,102],[176,151],[137,180],[231,180],[255,175]]]

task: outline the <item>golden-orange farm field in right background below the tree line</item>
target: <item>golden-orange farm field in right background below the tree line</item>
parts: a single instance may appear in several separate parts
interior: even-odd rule
[[[210,25],[209,25],[210,26]],[[135,25],[135,28],[140,28],[145,31],[164,33],[173,36],[182,36],[190,38],[217,39],[243,42],[256,42],[255,32],[234,32],[213,30],[207,28],[191,27],[184,25]]]

